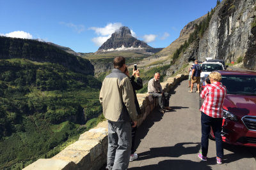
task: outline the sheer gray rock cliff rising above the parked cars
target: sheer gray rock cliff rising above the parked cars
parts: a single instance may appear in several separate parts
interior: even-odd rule
[[[251,56],[244,58],[244,66],[256,69],[255,59],[252,64],[252,58],[255,58],[255,55],[252,56],[252,53],[255,54],[255,32],[252,32],[251,25],[256,15],[255,9],[255,0],[223,0],[200,39],[198,56],[194,57],[199,60],[212,57],[236,62],[237,58],[244,58],[250,51]]]

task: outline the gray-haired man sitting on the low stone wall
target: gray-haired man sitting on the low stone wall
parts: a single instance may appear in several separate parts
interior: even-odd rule
[[[163,92],[160,84],[160,73],[155,73],[154,78],[148,81],[148,93],[152,94],[153,97],[158,97],[159,101],[159,112],[164,113],[164,110],[172,110],[169,107],[170,94]]]

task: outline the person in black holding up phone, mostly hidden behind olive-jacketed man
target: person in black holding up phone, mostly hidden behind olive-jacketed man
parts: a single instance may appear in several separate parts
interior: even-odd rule
[[[135,106],[136,106],[136,111],[137,111],[138,115],[141,115],[140,104],[138,103],[138,99],[137,99],[136,92],[135,92],[135,90],[140,90],[143,88],[143,83],[140,78],[140,71],[138,69],[137,70],[133,69],[132,76],[130,76],[129,71],[126,67],[124,73],[130,78],[130,82],[132,84],[132,89],[133,89],[133,94],[134,94],[134,102],[135,102]],[[136,76],[137,81],[134,81],[135,80],[134,76]],[[134,153],[135,152],[136,131],[137,131],[137,126],[132,127],[132,148],[131,148],[130,162],[135,159],[138,159],[138,154]]]

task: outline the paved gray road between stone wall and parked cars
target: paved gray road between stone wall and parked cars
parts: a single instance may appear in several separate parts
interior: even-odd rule
[[[151,113],[138,128],[138,160],[129,169],[256,169],[256,148],[224,145],[224,164],[216,164],[215,141],[209,140],[207,162],[200,162],[200,111],[197,93],[182,81],[171,92],[173,111]],[[194,87],[195,92],[195,87]]]

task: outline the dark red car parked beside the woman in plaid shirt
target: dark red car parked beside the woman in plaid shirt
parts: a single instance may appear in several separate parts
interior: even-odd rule
[[[223,104],[222,140],[256,147],[256,72],[218,71],[227,87]],[[205,84],[201,86],[204,89]],[[200,105],[202,104],[200,99]],[[210,138],[214,139],[211,131]]]

